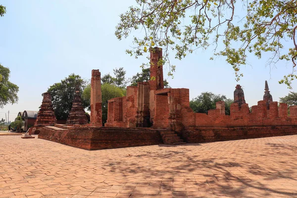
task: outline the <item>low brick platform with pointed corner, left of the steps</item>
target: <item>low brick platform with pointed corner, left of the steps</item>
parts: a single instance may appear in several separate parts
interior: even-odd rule
[[[64,145],[97,150],[162,144],[157,130],[109,127],[75,127],[67,130],[42,128],[38,138]]]

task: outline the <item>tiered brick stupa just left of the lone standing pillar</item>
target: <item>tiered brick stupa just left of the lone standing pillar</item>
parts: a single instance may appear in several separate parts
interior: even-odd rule
[[[69,112],[69,116],[67,118],[66,124],[67,125],[88,124],[88,119],[82,104],[81,94],[78,86],[76,86],[76,89],[75,89],[72,108],[71,108],[71,111]]]

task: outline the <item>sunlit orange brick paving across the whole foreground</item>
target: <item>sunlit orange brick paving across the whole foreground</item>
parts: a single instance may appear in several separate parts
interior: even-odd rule
[[[0,136],[0,197],[297,197],[297,136],[96,151]]]

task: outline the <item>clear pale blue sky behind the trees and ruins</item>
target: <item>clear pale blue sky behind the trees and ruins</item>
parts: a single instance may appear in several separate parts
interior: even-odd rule
[[[38,110],[41,94],[71,73],[90,79],[92,69],[104,75],[124,67],[126,76],[132,77],[146,61],[125,53],[132,38],[118,41],[114,36],[119,15],[135,0],[0,0],[0,4],[6,6],[6,14],[0,17],[0,63],[10,69],[10,81],[19,86],[18,103],[0,109],[0,119],[5,119],[8,110],[10,120],[19,111]],[[209,60],[211,54],[211,49],[198,49],[183,60],[172,59],[177,68],[174,78],[167,79],[169,85],[189,88],[192,99],[206,91],[233,98],[240,84],[249,106],[263,98],[265,80],[274,101],[290,91],[278,83],[292,71],[290,62],[279,62],[270,71],[265,67],[269,56],[260,60],[249,56],[250,65],[242,67],[244,77],[236,82],[225,59]],[[291,91],[296,86],[294,82]]]

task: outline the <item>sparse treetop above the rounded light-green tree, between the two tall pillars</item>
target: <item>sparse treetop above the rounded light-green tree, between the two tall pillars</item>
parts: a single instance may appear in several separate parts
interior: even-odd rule
[[[112,77],[110,74],[105,74],[101,78],[102,84],[107,83],[111,85],[115,85],[120,88],[125,88],[128,81],[126,80],[126,71],[123,67],[120,67],[119,69],[115,68],[113,69],[113,74],[115,77]]]

